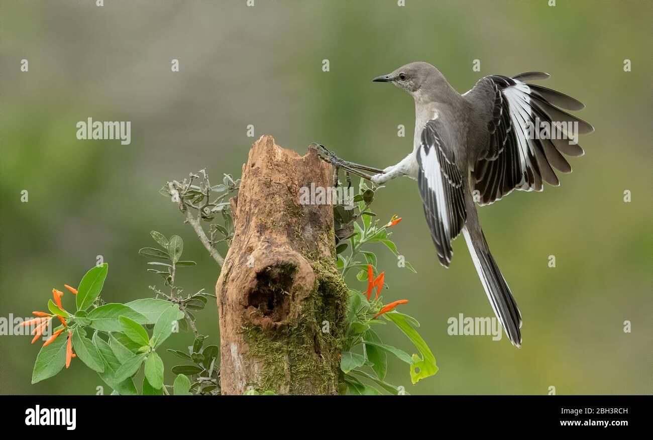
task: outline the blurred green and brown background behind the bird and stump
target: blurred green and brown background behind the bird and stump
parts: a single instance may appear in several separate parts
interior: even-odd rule
[[[524,317],[522,348],[505,334],[447,334],[449,317],[491,317],[492,309],[464,240],[454,242],[451,268],[439,266],[417,185],[394,180],[375,212],[403,217],[392,238],[418,273],[379,247],[385,296],[409,300],[402,311],[421,322],[440,369],[412,386],[407,366],[390,360],[387,379],[412,394],[548,394],[550,386],[556,394],[650,394],[652,3],[547,3],[2,2],[0,317],[44,309],[52,288],[76,285],[98,255],[109,264],[104,300],[151,296],[148,285],[160,281],[137,254],[154,244],[150,230],[182,236],[184,259],[199,264],[180,284],[212,291],[219,268],[159,195],[163,183],[201,168],[240,176],[262,134],[300,153],[316,141],[351,161],[397,163],[412,148],[414,104],[372,83],[377,75],[428,61],[464,93],[488,74],[545,71],[551,78],[539,84],[584,102],[577,115],[596,133],[581,137],[586,155],[569,159],[573,174],[558,173],[561,187],[516,191],[479,209]],[[75,125],[87,118],[131,121],[131,144],[78,140]],[[406,137],[397,136],[400,124]],[[198,319],[217,343],[217,307]],[[388,330],[388,343],[415,351]],[[103,385],[82,362],[30,385],[39,351],[30,339],[0,336],[0,393],[95,394]],[[167,345],[191,340],[179,334]],[[174,358],[164,361],[172,383]]]

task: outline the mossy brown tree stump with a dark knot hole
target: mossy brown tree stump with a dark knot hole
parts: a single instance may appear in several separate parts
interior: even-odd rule
[[[300,204],[332,168],[262,136],[231,204],[235,236],[217,280],[223,394],[338,394],[348,289],[336,268],[333,206]]]

